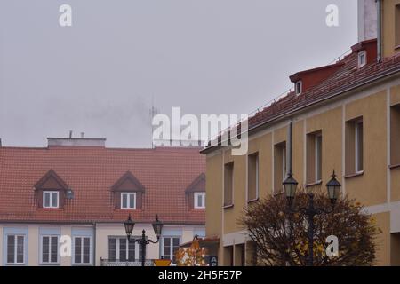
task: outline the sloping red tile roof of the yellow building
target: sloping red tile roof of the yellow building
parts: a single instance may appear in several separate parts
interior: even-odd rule
[[[321,83],[303,91],[300,95],[296,95],[294,91],[291,91],[283,98],[278,99],[271,105],[249,117],[249,130],[252,131],[261,125],[274,122],[282,117],[290,117],[292,112],[312,106],[324,99],[330,99],[346,91],[360,87],[365,83],[377,80],[380,77],[400,73],[400,53],[392,57],[384,58],[379,63],[376,60],[372,60],[371,57],[371,54],[376,54],[376,44],[372,44],[373,42],[376,42],[376,40],[368,40],[354,45],[351,54],[335,63],[334,66],[338,67],[337,71],[324,79]],[[367,65],[358,68],[358,51],[362,51],[363,49],[371,54],[368,56],[369,61]],[[318,69],[321,69],[321,67],[308,71],[317,72]],[[299,74],[301,75],[308,71],[302,71]],[[296,79],[297,75],[293,75],[293,79]],[[238,133],[240,133],[240,125],[238,125]],[[213,147],[214,146],[209,143],[202,151],[202,154],[209,153],[212,151]]]

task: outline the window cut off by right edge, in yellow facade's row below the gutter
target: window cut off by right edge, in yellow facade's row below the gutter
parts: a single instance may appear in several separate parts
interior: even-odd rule
[[[400,7],[400,6],[399,6]],[[390,108],[390,164],[400,164],[400,105]]]

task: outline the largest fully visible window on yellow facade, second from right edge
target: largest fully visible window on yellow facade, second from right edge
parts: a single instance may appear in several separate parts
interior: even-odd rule
[[[346,175],[364,170],[364,124],[363,119],[346,122]]]

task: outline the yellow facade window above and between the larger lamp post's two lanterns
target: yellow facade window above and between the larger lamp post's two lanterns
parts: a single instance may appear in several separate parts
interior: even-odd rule
[[[321,131],[307,135],[307,183],[322,180],[322,134]]]

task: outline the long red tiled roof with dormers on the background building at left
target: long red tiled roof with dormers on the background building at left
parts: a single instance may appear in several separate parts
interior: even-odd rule
[[[37,208],[33,187],[49,170],[74,191],[64,209]],[[136,222],[158,214],[166,224],[204,224],[204,210],[189,209],[185,194],[204,170],[198,148],[0,147],[0,222],[123,221],[128,212],[115,209],[111,187],[130,171],[145,187]]]

